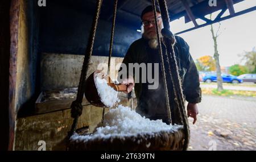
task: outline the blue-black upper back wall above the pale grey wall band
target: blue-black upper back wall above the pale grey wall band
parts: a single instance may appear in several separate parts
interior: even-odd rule
[[[96,6],[88,9],[86,5],[79,6],[80,3],[76,1],[47,1],[46,7],[40,7],[40,52],[84,55]],[[104,7],[101,17],[104,17],[102,13],[105,14]],[[117,16],[113,56],[123,57],[129,45],[141,37],[141,33],[118,23],[119,19],[122,18]],[[100,19],[93,55],[108,56],[111,28],[111,19]]]

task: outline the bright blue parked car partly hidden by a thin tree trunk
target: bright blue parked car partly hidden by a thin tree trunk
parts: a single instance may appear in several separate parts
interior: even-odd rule
[[[238,84],[243,82],[240,78],[233,76],[231,74],[221,74],[223,82],[230,82],[233,84]],[[214,74],[208,74],[203,77],[203,82],[217,82],[217,75],[216,73]]]

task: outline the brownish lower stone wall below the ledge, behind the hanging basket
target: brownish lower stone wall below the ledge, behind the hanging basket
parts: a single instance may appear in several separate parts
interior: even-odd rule
[[[123,97],[120,104],[131,107],[132,102],[131,99],[128,101]],[[108,110],[106,109],[105,112]],[[92,132],[101,122],[102,111],[102,107],[83,106],[77,128],[89,127],[89,131]],[[38,145],[40,140],[46,142],[47,151],[65,150],[66,137],[72,123],[71,109],[18,118],[16,120],[15,150],[36,151],[40,147]]]

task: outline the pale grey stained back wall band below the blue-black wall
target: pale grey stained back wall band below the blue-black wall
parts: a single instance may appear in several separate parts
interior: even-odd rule
[[[122,63],[122,60],[122,57],[112,57],[110,61],[110,77],[113,80],[117,77],[119,63]],[[82,55],[42,53],[42,90],[77,87],[79,85],[83,62],[84,56]],[[92,56],[89,63],[88,75],[93,73],[96,69],[102,69],[102,67],[105,67],[104,70],[106,72],[108,67],[108,57]]]

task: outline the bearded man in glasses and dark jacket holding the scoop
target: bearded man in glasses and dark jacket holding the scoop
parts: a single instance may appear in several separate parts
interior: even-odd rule
[[[160,14],[159,6],[156,6],[156,18],[158,22],[159,30],[163,28],[163,22]],[[158,78],[158,87],[155,89],[149,89],[149,85],[152,82],[148,80],[142,82],[142,76],[139,76],[138,82],[135,82],[133,72],[127,72],[127,76],[119,76],[123,85],[127,85],[126,93],[130,93],[134,88],[137,97],[137,109],[136,111],[150,118],[151,120],[162,119],[163,122],[170,124],[168,121],[168,113],[166,106],[166,96],[164,92],[164,83],[162,76],[162,68],[159,55],[159,45],[156,35],[155,16],[152,6],[147,6],[141,14],[142,19],[142,38],[134,41],[123,59],[123,64],[129,69],[129,64],[146,64],[147,73],[148,70],[152,72],[151,77]],[[160,35],[162,38],[162,35]],[[189,53],[188,44],[179,36],[175,36],[176,43],[174,50],[176,54],[176,60],[179,70],[179,75],[182,81],[183,93],[185,99],[188,101],[187,113],[188,117],[192,117],[193,124],[197,120],[197,114],[199,113],[197,103],[201,102],[201,89],[199,83],[199,74],[196,69],[196,65]],[[150,70],[148,68],[158,69]],[[121,70],[121,69],[120,69]],[[168,74],[168,70],[166,70]],[[143,75],[144,73],[141,73]],[[123,78],[122,78],[123,77]],[[148,76],[147,76],[148,77]],[[135,81],[134,81],[135,80]],[[170,89],[172,90],[172,89]],[[171,107],[173,112],[171,115],[172,121],[176,124],[180,124],[180,118],[177,107]],[[172,123],[174,124],[174,123]]]

